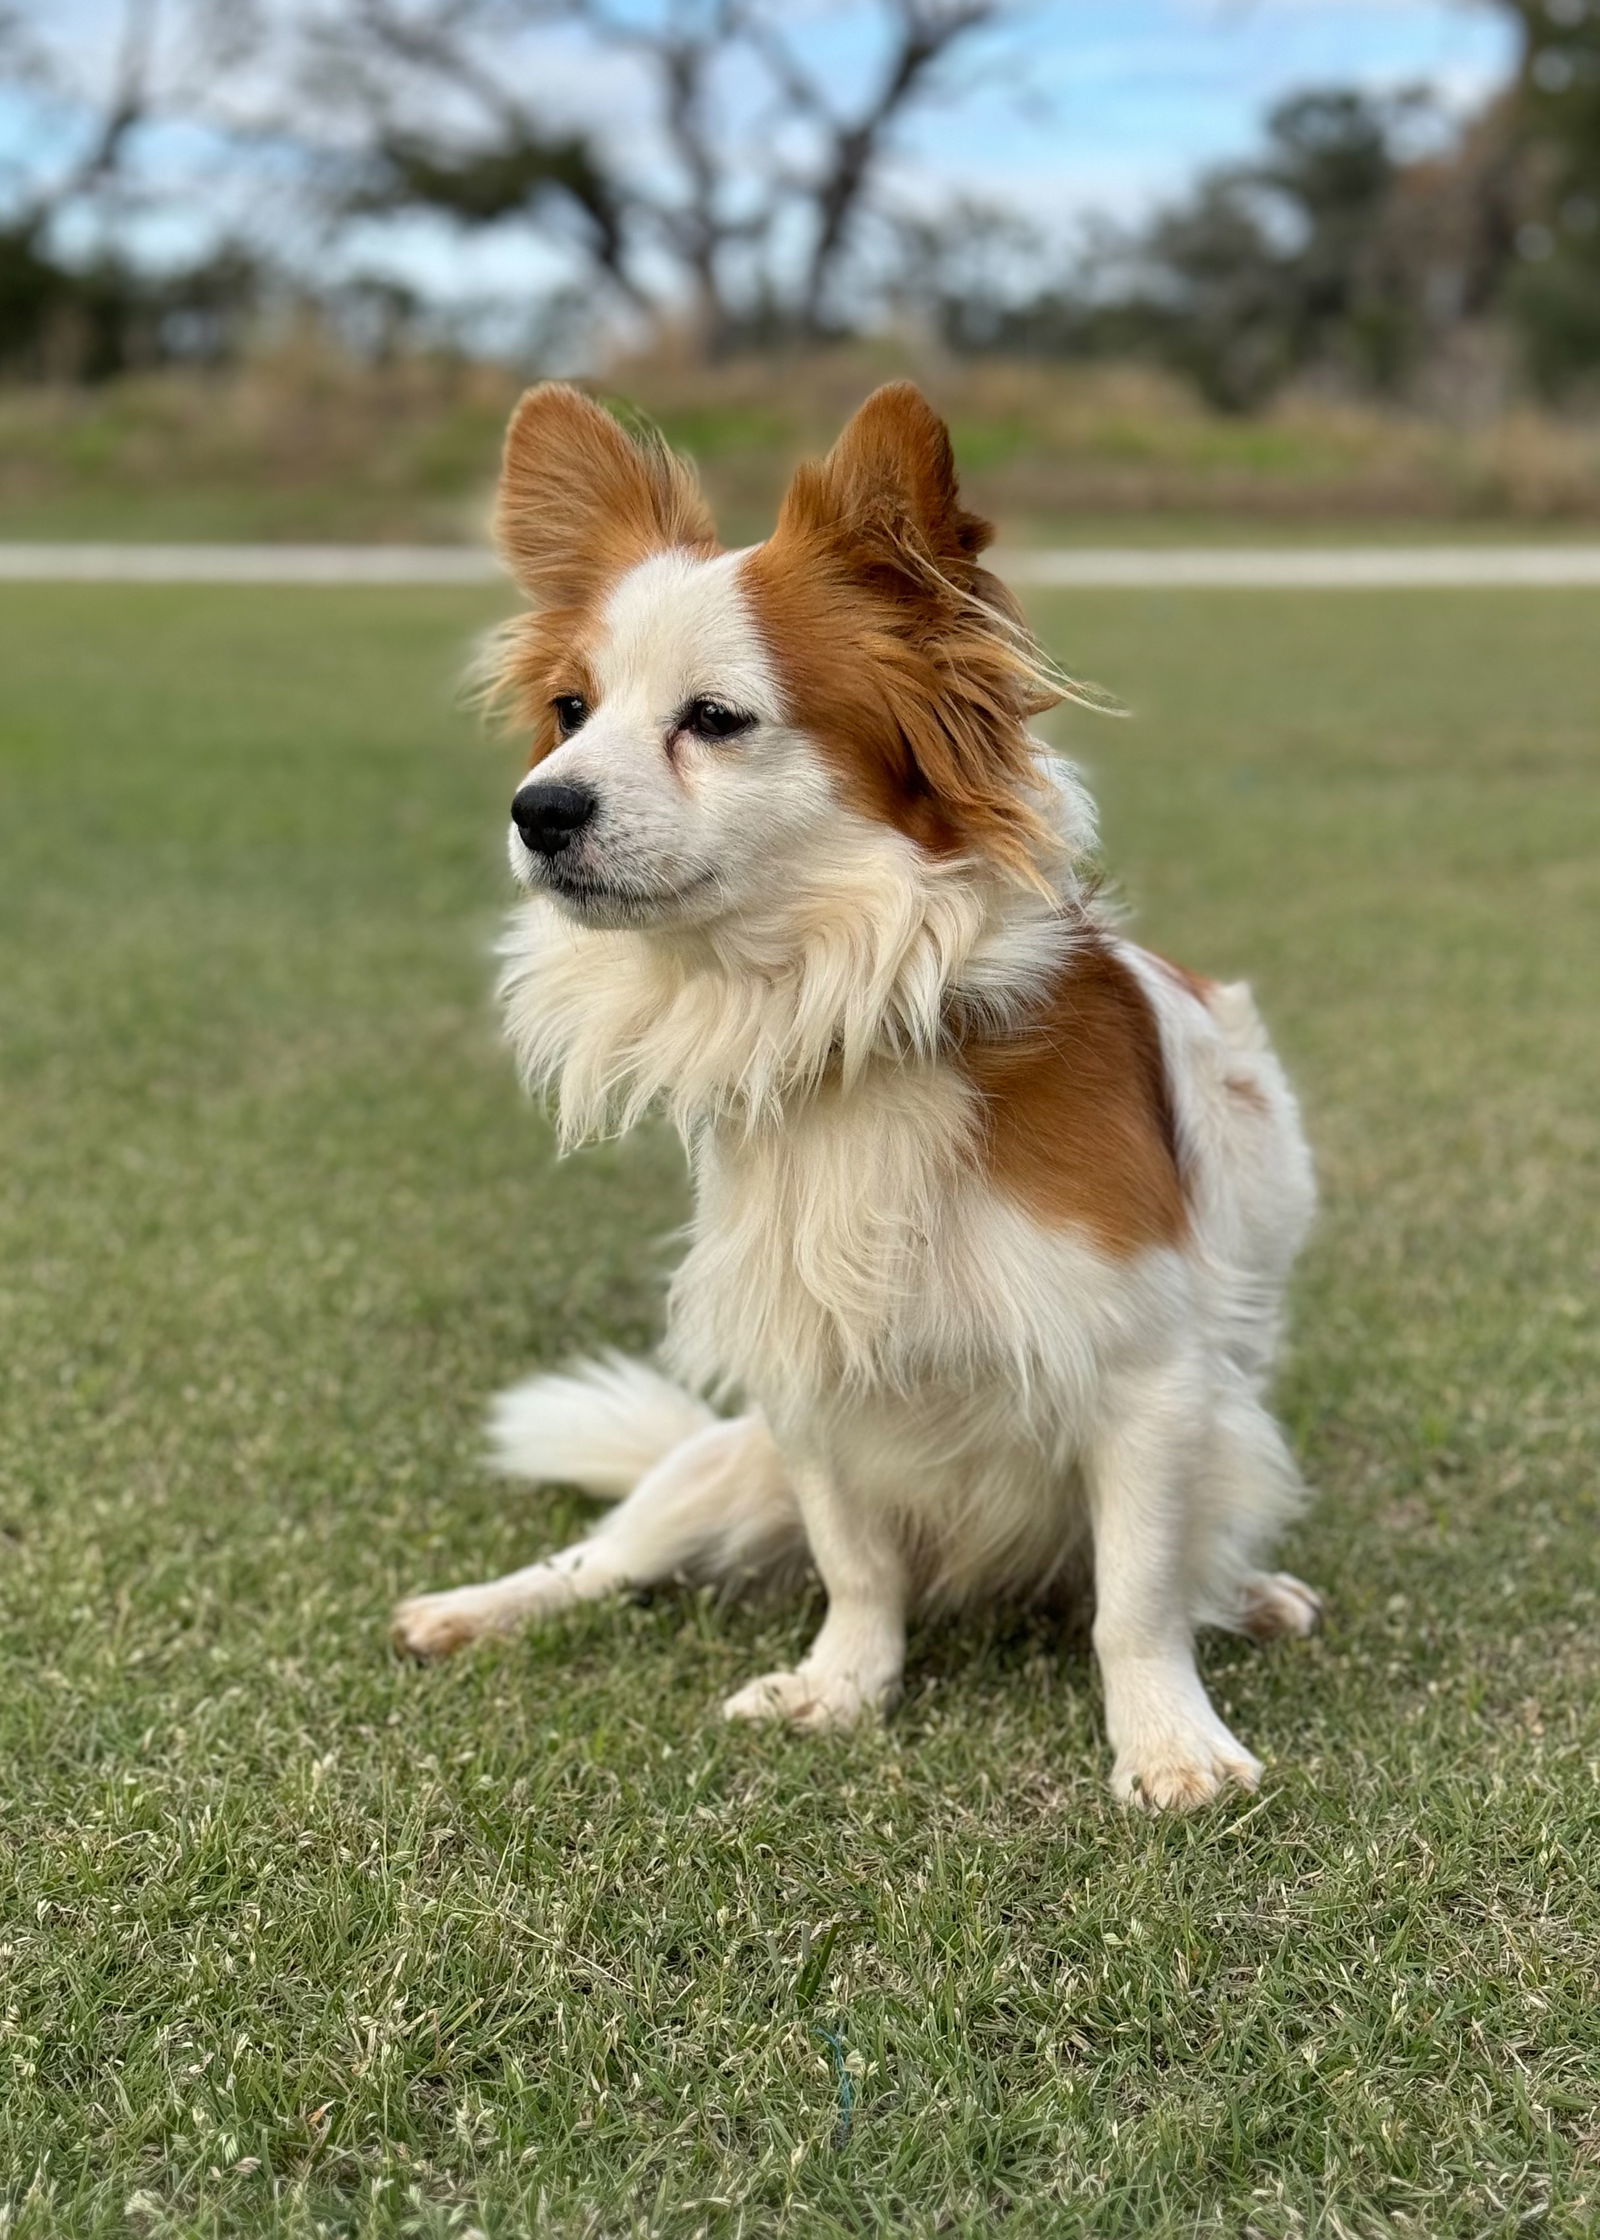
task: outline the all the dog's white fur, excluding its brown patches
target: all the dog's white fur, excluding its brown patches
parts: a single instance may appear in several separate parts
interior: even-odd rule
[[[648,923],[556,907],[513,844],[536,892],[504,941],[506,1030],[562,1142],[661,1109],[690,1149],[666,1348],[681,1387],[612,1360],[504,1396],[502,1467],[627,1499],[549,1564],[412,1599],[399,1637],[432,1653],[574,1595],[809,1552],[822,1635],[728,1711],[831,1725],[892,1696],[910,1606],[1049,1590],[1091,1546],[1118,1794],[1253,1783],[1192,1628],[1315,1615],[1259,1570],[1300,1492],[1264,1404],[1311,1214],[1282,1068],[1246,990],[1201,1001],[1120,943],[1159,1021],[1192,1232],[1116,1259],[1002,1196],[952,1033],[1022,1024],[1087,930],[1114,939],[1078,887],[1087,797],[1040,762],[1053,896],[847,809],[782,706],[737,562],[672,556],[618,587],[598,712],[540,771],[601,788],[594,862],[659,896]],[[731,697],[728,676],[755,737],[670,766],[672,708]],[[690,1393],[746,1413],[715,1422]]]

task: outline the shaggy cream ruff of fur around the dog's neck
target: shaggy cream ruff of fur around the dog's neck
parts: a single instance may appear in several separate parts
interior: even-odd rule
[[[562,1147],[657,1107],[686,1140],[751,1133],[874,1062],[1020,1028],[1089,925],[1071,874],[1031,894],[896,833],[843,831],[827,869],[692,932],[587,930],[531,900],[502,941],[500,997]]]

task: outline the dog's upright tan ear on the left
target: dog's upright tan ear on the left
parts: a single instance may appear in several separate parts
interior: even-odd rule
[[[710,508],[659,437],[632,437],[565,381],[529,390],[506,428],[495,544],[536,607],[574,607],[652,551],[715,547]]]

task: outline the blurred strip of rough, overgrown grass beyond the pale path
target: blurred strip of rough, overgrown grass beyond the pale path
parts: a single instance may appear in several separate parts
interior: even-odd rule
[[[908,372],[948,412],[975,502],[1033,542],[1584,535],[1600,520],[1600,423],[1528,408],[1472,428],[1322,396],[1219,414],[1136,365],[903,345],[719,367],[654,352],[605,388],[701,459],[724,529],[753,538],[793,461]],[[224,374],[0,390],[4,533],[471,540],[518,388],[509,367],[368,367],[300,336]]]

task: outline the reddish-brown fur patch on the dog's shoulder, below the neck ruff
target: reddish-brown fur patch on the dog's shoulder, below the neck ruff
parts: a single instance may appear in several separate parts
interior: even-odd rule
[[[970,1044],[995,1185],[1051,1228],[1087,1230],[1125,1259],[1188,1228],[1161,1035],[1127,965],[1076,950],[1031,1028]]]

